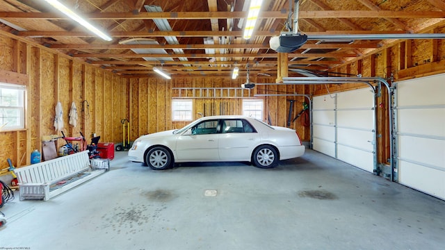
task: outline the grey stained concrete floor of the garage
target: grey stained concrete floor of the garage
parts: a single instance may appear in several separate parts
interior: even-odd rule
[[[444,249],[445,201],[312,150],[275,169],[126,156],[50,201],[6,203],[0,249]]]

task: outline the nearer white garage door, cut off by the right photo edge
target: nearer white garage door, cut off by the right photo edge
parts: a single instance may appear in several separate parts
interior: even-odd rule
[[[445,199],[445,74],[396,83],[398,182]]]

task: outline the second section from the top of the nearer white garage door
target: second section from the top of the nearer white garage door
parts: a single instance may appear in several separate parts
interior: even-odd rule
[[[401,109],[397,112],[398,133],[445,137],[445,108]]]

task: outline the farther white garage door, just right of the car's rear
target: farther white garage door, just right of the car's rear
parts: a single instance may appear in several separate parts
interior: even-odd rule
[[[377,166],[374,100],[371,88],[314,97],[313,149],[373,173]]]

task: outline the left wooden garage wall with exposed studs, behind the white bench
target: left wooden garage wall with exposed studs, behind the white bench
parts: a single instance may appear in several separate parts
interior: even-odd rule
[[[127,80],[32,42],[0,35],[0,46],[0,70],[6,72],[0,76],[2,81],[27,85],[29,103],[25,130],[0,131],[1,169],[8,166],[7,158],[16,167],[29,164],[32,150],[41,150],[42,138],[61,136],[54,129],[57,101],[63,106],[67,136],[79,136],[82,131],[90,142],[94,132],[104,138],[102,141],[121,141],[120,118],[129,117],[130,110]],[[73,101],[79,116],[76,128],[69,125]],[[57,144],[65,141],[59,139]]]

